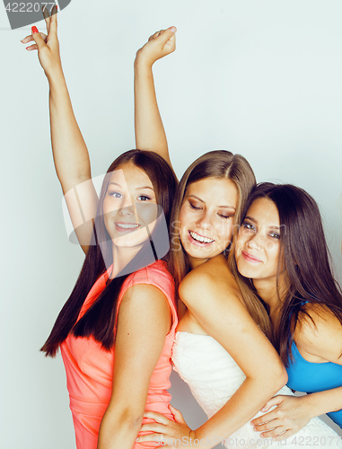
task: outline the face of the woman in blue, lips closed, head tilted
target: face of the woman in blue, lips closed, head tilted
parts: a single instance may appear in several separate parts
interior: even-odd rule
[[[251,279],[273,279],[280,254],[280,224],[276,205],[268,198],[251,204],[236,242],[239,272]]]

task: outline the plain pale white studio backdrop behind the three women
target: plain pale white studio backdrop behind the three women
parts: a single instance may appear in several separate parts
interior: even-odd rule
[[[92,159],[105,172],[135,147],[133,61],[154,31],[175,25],[177,50],[155,84],[179,176],[197,156],[243,154],[257,179],[290,182],[318,201],[342,281],[342,28],[340,0],[72,0],[58,14],[63,66]],[[37,23],[39,30],[43,22]],[[6,28],[7,27],[7,28]],[[48,83],[37,54],[0,6],[1,423],[6,449],[72,449],[61,357],[39,353],[70,294],[83,253],[69,243],[52,163]],[[203,419],[177,374],[172,403]]]

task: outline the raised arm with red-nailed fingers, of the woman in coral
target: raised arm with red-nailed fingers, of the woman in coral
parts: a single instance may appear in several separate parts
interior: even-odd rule
[[[62,70],[57,39],[57,9],[55,8],[56,6],[51,17],[46,9],[43,12],[48,35],[40,34],[36,27],[32,27],[32,34],[23,39],[22,43],[35,41],[35,44],[27,49],[38,49],[40,65],[48,78],[51,143],[57,178],[66,195],[66,205],[77,238],[86,253],[92,238],[92,221],[83,225],[80,216],[95,216],[98,197],[92,184],[88,150],[75,119]],[[82,183],[83,185],[79,186]],[[76,186],[79,186],[77,191],[75,191]]]

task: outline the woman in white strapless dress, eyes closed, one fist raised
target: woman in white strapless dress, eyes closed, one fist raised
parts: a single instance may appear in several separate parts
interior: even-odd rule
[[[156,151],[168,162],[152,66],[174,50],[173,33],[155,33],[137,52],[135,65],[136,147]],[[255,433],[250,419],[285,384],[285,368],[266,337],[271,323],[265,308],[242,297],[224,255],[254,182],[247,161],[224,151],[201,156],[180,180],[171,218],[170,269],[180,295],[173,362],[209,419],[191,430],[178,410],[172,409],[176,423],[147,412],[145,416],[156,422],[142,430],[154,434],[140,437],[141,442],[209,448],[221,441],[226,447],[272,444]],[[281,393],[292,394],[286,387]],[[319,418],[300,436],[309,447],[323,447],[329,437],[342,447],[337,434]],[[298,444],[286,440],[291,447]]]

